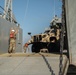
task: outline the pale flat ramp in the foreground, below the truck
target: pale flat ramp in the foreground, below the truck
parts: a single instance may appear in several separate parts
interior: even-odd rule
[[[58,75],[59,72],[59,55],[44,55],[51,67],[52,72]],[[40,54],[2,54],[0,55],[0,75],[51,75],[48,64]],[[63,56],[63,65],[66,64],[67,58]]]

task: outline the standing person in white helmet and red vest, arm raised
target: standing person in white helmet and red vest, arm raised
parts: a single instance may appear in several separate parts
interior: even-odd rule
[[[8,53],[14,53],[16,49],[16,34],[18,33],[17,30],[11,28],[10,30],[10,37],[9,37],[9,49]]]

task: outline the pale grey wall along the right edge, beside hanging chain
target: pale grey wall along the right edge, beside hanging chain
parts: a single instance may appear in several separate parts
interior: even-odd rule
[[[76,65],[76,0],[65,0],[70,61]]]

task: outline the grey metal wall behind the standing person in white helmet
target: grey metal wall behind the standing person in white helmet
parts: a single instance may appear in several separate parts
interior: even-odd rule
[[[17,25],[0,17],[0,53],[8,52],[10,28],[17,28]],[[16,52],[22,51],[22,29],[19,28],[19,34],[16,40]]]

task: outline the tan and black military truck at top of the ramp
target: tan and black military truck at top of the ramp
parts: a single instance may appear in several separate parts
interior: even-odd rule
[[[59,52],[60,30],[61,18],[55,16],[50,23],[49,29],[45,30],[44,33],[31,36],[27,44],[32,44],[32,52]]]

